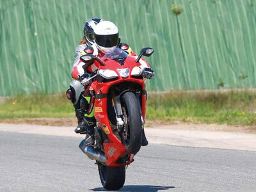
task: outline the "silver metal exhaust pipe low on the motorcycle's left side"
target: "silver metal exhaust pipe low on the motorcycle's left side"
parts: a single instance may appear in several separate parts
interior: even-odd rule
[[[99,161],[100,163],[106,165],[106,156],[104,152],[100,150],[95,150],[95,148],[84,145],[84,140],[79,144],[79,148],[89,157],[89,159]]]

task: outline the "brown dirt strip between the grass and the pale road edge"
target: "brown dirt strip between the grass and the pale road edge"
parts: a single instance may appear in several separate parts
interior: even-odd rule
[[[31,124],[31,125],[50,125],[76,127],[76,118],[13,118],[0,119],[0,123],[7,124]],[[147,120],[145,127],[158,129],[184,129],[184,130],[202,130],[202,131],[232,131],[232,132],[249,132],[256,134],[256,127],[239,126],[239,125],[218,125],[218,124],[195,124],[186,122],[166,122]]]

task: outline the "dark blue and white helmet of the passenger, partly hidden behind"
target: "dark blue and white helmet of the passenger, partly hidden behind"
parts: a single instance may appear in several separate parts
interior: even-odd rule
[[[93,18],[86,20],[84,24],[84,38],[86,40],[86,45],[91,46],[93,41],[93,29],[99,22],[102,22],[103,20],[100,18]]]

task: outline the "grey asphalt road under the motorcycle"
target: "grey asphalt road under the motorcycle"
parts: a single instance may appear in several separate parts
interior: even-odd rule
[[[81,138],[0,131],[0,191],[104,191]],[[256,191],[256,152],[152,144],[120,191]]]

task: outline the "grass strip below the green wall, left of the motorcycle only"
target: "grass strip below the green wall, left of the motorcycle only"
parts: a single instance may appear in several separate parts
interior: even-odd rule
[[[74,117],[65,93],[58,95],[17,95],[0,104],[0,118]]]

